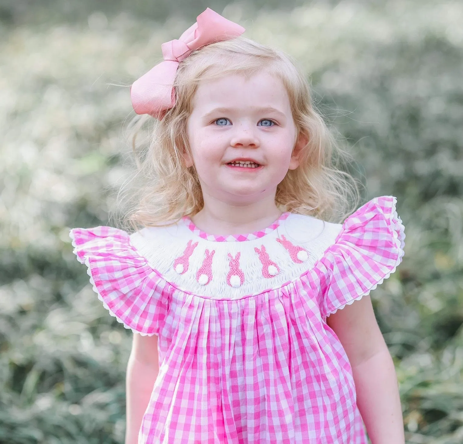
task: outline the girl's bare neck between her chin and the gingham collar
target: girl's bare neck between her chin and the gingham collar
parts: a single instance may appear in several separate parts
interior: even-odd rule
[[[208,234],[227,236],[263,230],[281,214],[275,205],[275,197],[244,205],[205,197],[204,207],[191,216],[191,220],[196,227]]]

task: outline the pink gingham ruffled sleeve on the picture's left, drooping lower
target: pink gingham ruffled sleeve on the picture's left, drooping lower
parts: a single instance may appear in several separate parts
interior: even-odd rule
[[[158,334],[168,310],[166,282],[131,246],[125,231],[73,228],[74,253],[87,265],[90,283],[117,321],[141,335]]]

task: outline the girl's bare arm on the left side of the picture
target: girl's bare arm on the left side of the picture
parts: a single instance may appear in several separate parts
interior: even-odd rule
[[[125,444],[138,443],[138,431],[159,372],[157,336],[133,333],[127,364]]]

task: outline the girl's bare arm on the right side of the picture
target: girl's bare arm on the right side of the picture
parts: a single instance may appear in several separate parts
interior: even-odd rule
[[[369,296],[326,318],[352,366],[357,406],[372,444],[404,444],[394,363],[376,322]]]

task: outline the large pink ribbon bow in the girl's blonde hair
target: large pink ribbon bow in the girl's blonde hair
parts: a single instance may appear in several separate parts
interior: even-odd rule
[[[240,36],[244,28],[207,8],[178,40],[163,43],[163,62],[135,80],[130,89],[133,109],[137,114],[150,114],[162,120],[175,105],[174,80],[179,62],[195,49],[209,43]]]

